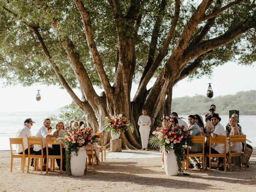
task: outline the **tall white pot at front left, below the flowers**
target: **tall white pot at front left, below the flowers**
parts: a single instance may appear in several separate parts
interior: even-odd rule
[[[76,156],[76,151],[73,151],[70,156],[70,168],[71,168],[71,174],[73,176],[83,176],[84,175],[84,169],[85,169],[85,163],[86,163],[86,151],[84,148],[79,148],[78,150],[78,156]]]

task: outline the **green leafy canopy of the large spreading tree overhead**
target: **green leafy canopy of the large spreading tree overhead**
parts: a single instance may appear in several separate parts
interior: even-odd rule
[[[110,82],[113,82],[117,66],[118,37],[113,10],[104,0],[82,0],[86,10],[90,14],[90,22],[94,33],[94,40],[98,48],[104,69]],[[131,31],[133,27],[126,27],[126,35],[134,35],[136,51],[136,71],[134,81],[138,82],[144,66],[148,60],[148,49],[151,42],[154,22],[159,18],[159,7],[161,0],[147,0],[136,4],[134,8],[140,8],[141,22],[138,32]],[[224,1],[221,6],[232,2]],[[130,3],[127,0],[118,0],[118,9],[122,14],[127,14]],[[170,56],[175,48],[186,22],[190,19],[194,10],[198,6],[198,1],[188,1],[182,3],[180,16],[174,37],[168,48],[166,58]],[[207,10],[209,14],[214,6],[219,2],[212,2]],[[224,34],[226,30],[234,28],[238,23],[254,17],[255,7],[250,5],[251,1],[244,1],[242,4],[232,6],[222,12],[216,19],[216,23],[204,38],[208,40]],[[8,8],[17,17],[3,9]],[[162,26],[157,37],[156,54],[161,50],[168,30],[174,17],[174,1],[167,1],[166,12],[162,17]],[[84,27],[80,13],[72,0],[44,0],[44,1],[14,1],[3,0],[0,2],[0,79],[5,79],[6,84],[21,83],[29,86],[33,83],[60,84],[52,66],[46,60],[42,48],[36,36],[28,29],[24,22],[36,26],[48,47],[54,62],[60,68],[60,72],[72,88],[78,88],[78,80],[70,66],[70,60],[64,48],[62,48],[56,32],[51,24],[52,20],[58,22],[58,32],[62,38],[69,38],[75,46],[76,52],[80,55],[80,60],[84,64],[88,75],[94,85],[101,86],[98,74],[93,65],[92,56],[89,53]],[[199,24],[193,33],[192,40],[200,33],[200,29],[205,22]],[[125,23],[129,26],[130,23]],[[124,30],[124,29],[121,29]],[[213,66],[222,65],[229,60],[236,60],[240,64],[252,64],[256,60],[256,38],[255,28],[248,30],[246,34],[234,42],[215,49],[206,56],[202,66],[192,74],[191,77],[210,75]],[[192,42],[191,40],[191,42]],[[225,52],[225,54],[223,54]],[[160,70],[166,62],[162,61],[154,77],[158,76]]]

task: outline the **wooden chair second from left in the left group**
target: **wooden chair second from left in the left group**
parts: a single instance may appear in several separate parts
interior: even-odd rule
[[[41,159],[40,161],[40,169],[41,169],[41,174],[43,170],[43,159],[46,158],[46,155],[44,155],[43,152],[43,141],[42,138],[37,138],[37,137],[29,137],[28,138],[28,146],[30,145],[40,145],[41,146],[41,155],[36,155],[36,154],[31,154],[30,153],[30,148],[28,148],[28,173],[29,173],[29,165],[30,165],[30,158],[34,158],[34,170],[38,170],[38,160],[39,158]]]

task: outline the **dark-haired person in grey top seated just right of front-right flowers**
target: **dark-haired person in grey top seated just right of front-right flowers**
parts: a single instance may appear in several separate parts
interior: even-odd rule
[[[200,135],[202,135],[202,130],[200,129],[200,127],[196,123],[194,115],[188,116],[188,123],[189,123],[188,128],[191,129],[191,131],[190,131],[191,136],[200,136]],[[195,143],[192,146],[188,146],[189,152],[201,152],[202,148],[203,148],[203,146],[202,146],[201,143]],[[201,167],[201,165],[198,163],[198,161],[196,160],[195,157],[189,157],[189,159],[190,159],[190,161],[192,161],[192,164],[193,164],[194,167],[196,167],[196,168]]]

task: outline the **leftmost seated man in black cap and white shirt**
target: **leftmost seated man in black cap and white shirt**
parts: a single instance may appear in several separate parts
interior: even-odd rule
[[[16,133],[16,137],[22,138],[22,140],[23,140],[25,154],[28,154],[28,137],[32,136],[30,129],[33,126],[33,123],[35,123],[35,122],[32,121],[31,118],[26,119],[24,121],[24,127],[22,129],[19,129],[18,132]],[[23,154],[21,144],[16,145],[16,152],[19,154]],[[34,150],[32,147],[30,147],[30,152],[34,153]],[[31,166],[33,166],[33,161],[34,161],[34,159],[32,158]]]

